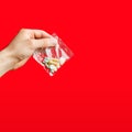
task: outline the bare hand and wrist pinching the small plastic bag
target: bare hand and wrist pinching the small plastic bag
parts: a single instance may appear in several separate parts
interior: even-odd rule
[[[22,29],[0,52],[0,77],[23,66],[35,50],[55,46],[56,43],[56,40],[45,31]]]

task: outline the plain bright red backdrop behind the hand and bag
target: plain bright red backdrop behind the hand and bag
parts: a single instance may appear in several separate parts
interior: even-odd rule
[[[0,50],[42,29],[75,56],[54,77],[31,58],[0,78],[0,132],[131,132],[131,16],[127,1],[1,1]]]

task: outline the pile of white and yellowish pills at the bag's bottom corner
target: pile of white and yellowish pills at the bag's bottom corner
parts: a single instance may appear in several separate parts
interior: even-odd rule
[[[53,76],[55,72],[66,62],[64,57],[61,58],[53,58],[53,57],[45,57],[42,62],[45,67],[50,70],[50,75]]]

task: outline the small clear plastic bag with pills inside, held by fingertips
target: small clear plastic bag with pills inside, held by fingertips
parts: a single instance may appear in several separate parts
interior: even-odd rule
[[[33,58],[41,64],[45,70],[53,76],[74,54],[56,34],[57,40],[54,47],[35,51]]]

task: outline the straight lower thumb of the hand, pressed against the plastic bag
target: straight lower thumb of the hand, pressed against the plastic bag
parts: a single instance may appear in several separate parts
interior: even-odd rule
[[[44,48],[50,46],[55,46],[57,44],[56,38],[41,38],[41,40],[32,40],[34,48]]]

